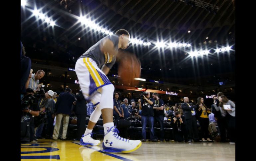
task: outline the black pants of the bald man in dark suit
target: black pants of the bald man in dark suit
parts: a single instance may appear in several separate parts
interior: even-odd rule
[[[186,119],[186,122],[188,139],[199,140],[196,117],[192,116],[191,119]]]

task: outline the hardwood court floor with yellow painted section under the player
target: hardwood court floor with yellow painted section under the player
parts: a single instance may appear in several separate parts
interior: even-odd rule
[[[234,161],[235,144],[143,142],[131,153],[103,153],[100,146],[84,147],[78,141],[39,139],[21,144],[22,161]]]

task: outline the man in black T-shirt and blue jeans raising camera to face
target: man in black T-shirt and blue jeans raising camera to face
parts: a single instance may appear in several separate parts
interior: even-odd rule
[[[149,100],[150,98],[150,92],[143,92],[140,94],[140,97],[142,98],[138,100],[139,102],[139,108],[141,110],[141,124],[142,124],[142,140],[146,141],[146,125],[147,122],[149,122],[150,127],[150,140],[156,142],[154,135],[154,110],[153,110],[153,102]],[[141,101],[143,104],[141,104]]]

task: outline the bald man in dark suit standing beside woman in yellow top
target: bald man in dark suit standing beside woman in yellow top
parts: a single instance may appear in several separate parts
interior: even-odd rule
[[[184,97],[184,103],[181,104],[181,108],[184,112],[184,116],[186,119],[186,128],[188,133],[188,142],[201,142],[198,136],[197,122],[196,122],[196,113],[195,108],[189,104],[189,98]],[[193,139],[192,139],[193,138]],[[186,140],[185,140],[186,141]]]

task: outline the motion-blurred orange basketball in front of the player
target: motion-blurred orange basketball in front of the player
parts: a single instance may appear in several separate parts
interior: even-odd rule
[[[127,51],[121,51],[121,53],[118,54],[120,54],[118,75],[120,76],[121,83],[130,87],[137,86],[139,81],[134,80],[134,78],[140,78],[140,60],[135,54]]]

